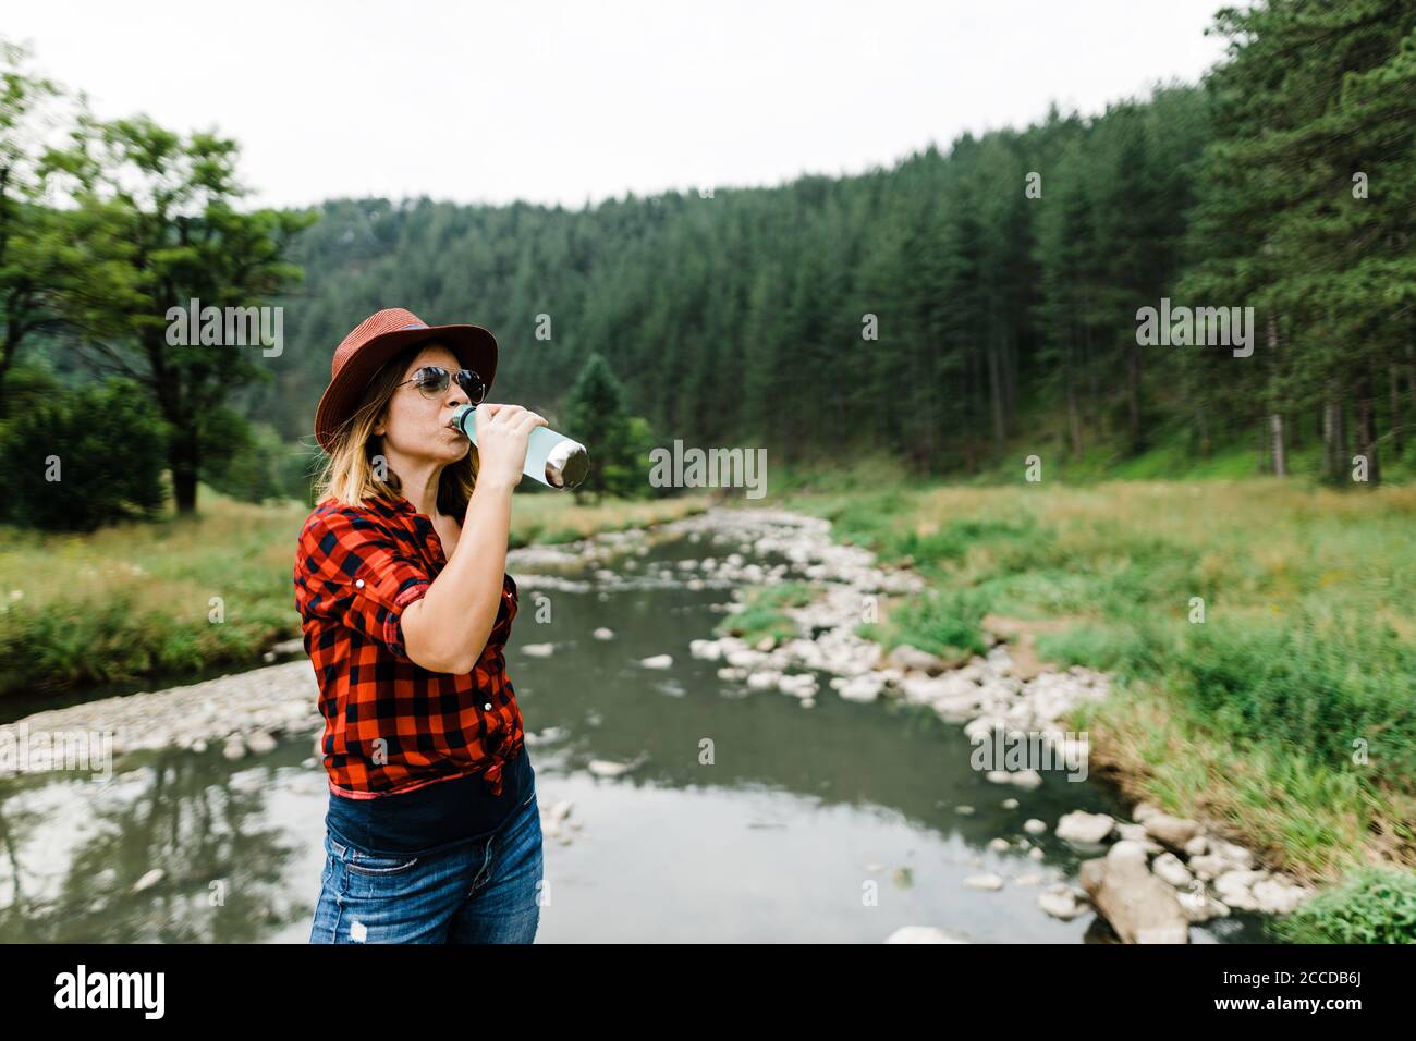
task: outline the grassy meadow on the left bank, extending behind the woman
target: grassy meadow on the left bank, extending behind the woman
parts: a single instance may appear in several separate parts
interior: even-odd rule
[[[700,497],[513,500],[511,545],[571,541],[705,508]],[[252,506],[207,486],[195,517],[89,535],[6,528],[0,550],[0,695],[253,663],[300,636],[292,571],[309,508]],[[219,620],[218,620],[219,619]]]

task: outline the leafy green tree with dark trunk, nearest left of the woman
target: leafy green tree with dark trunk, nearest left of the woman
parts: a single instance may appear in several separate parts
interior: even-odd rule
[[[202,457],[219,452],[207,418],[252,380],[269,380],[262,346],[173,343],[169,312],[252,307],[299,276],[285,259],[312,218],[256,210],[235,180],[235,142],[212,133],[183,136],[150,119],[84,116],[67,150],[47,157],[72,180],[88,221],[88,262],[110,273],[113,289],[81,314],[86,351],[140,381],[171,429],[166,446],[177,510],[197,506]],[[188,340],[197,339],[190,330]],[[225,337],[221,337],[225,340]]]

